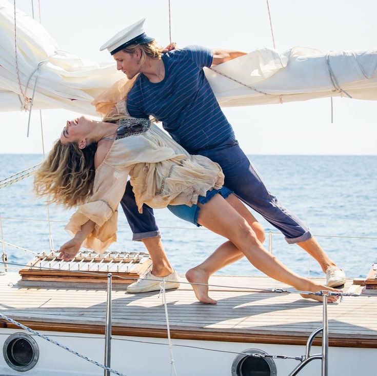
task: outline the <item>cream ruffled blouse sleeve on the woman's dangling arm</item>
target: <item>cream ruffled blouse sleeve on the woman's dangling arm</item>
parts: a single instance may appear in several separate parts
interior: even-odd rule
[[[103,253],[116,241],[117,207],[125,191],[129,170],[130,168],[117,170],[103,164],[95,171],[90,201],[77,209],[65,228],[74,236],[89,220],[95,223],[94,230],[84,241],[83,247]]]

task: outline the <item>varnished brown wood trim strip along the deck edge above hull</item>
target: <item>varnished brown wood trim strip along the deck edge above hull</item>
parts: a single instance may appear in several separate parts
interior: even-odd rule
[[[20,321],[22,324],[34,330],[47,330],[69,333],[104,334],[105,327],[102,325],[85,324],[62,324],[62,323],[40,323],[34,321]],[[9,329],[17,329],[18,326],[0,320],[0,326]],[[112,335],[123,335],[126,337],[149,337],[167,338],[166,329],[132,328],[113,326]],[[245,342],[265,343],[276,345],[306,345],[307,337],[301,335],[270,335],[270,334],[248,334],[248,333],[224,333],[204,330],[170,330],[171,338],[180,340],[197,341],[221,341],[221,342]],[[321,338],[315,339],[313,344],[321,346]],[[355,347],[355,348],[377,348],[377,338],[342,338],[329,337],[329,346],[332,347]]]

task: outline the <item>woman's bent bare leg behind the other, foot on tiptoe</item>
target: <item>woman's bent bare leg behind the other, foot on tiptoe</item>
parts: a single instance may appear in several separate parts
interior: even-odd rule
[[[249,226],[254,230],[257,239],[263,243],[265,240],[263,227],[245,205],[234,194],[230,194],[226,198],[226,201],[244,217]],[[202,303],[215,304],[216,301],[208,296],[207,284],[209,277],[217,270],[242,259],[243,256],[244,254],[242,251],[240,251],[232,242],[227,241],[217,248],[203,263],[189,269],[186,272],[187,280],[192,283],[203,284],[193,285],[196,298]]]

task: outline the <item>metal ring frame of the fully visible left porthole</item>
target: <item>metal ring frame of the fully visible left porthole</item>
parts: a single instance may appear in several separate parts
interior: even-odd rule
[[[13,358],[12,351],[13,346],[17,343],[18,340],[26,341],[32,349],[32,358],[28,364],[21,364]],[[29,334],[23,332],[17,332],[11,334],[4,342],[3,346],[3,355],[8,366],[18,372],[26,372],[32,369],[38,362],[39,359],[39,348],[37,343]]]

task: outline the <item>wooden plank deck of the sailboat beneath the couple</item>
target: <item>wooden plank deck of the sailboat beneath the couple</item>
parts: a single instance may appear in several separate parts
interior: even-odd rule
[[[0,276],[1,313],[39,330],[104,333],[103,285],[25,286],[17,284],[19,279],[17,273]],[[298,294],[263,291],[288,287],[270,278],[213,276],[210,284],[232,287],[210,288],[216,305],[197,302],[187,284],[167,291],[172,338],[304,344],[310,332],[322,325],[321,303]],[[360,293],[363,289],[348,280],[344,291]],[[330,346],[377,347],[377,290],[367,290],[367,294],[347,296],[341,303],[328,305]],[[158,291],[128,294],[125,287],[114,288],[112,325],[113,334],[166,337],[162,297]],[[15,328],[4,320],[0,320],[1,326]]]

